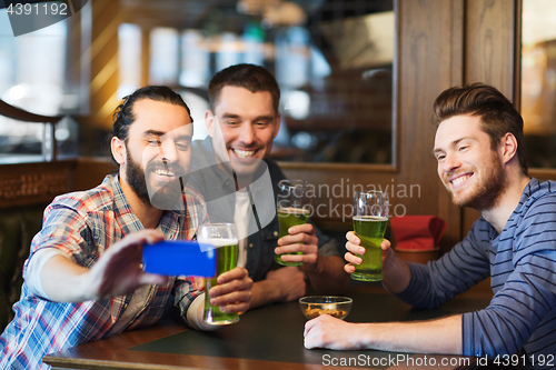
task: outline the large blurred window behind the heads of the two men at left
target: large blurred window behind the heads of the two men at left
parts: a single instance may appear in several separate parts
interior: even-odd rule
[[[267,68],[280,86],[275,159],[391,163],[393,0],[188,2],[172,17],[168,8],[125,7],[150,30],[149,83],[183,93],[196,139],[206,134],[210,77],[247,62]],[[165,22],[172,27],[150,26]]]

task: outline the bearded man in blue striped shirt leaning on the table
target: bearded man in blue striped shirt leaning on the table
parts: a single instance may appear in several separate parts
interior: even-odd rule
[[[481,212],[467,238],[427,266],[381,244],[384,286],[416,308],[435,308],[490,277],[490,304],[434,321],[348,323],[322,316],[305,328],[307,348],[379,349],[464,356],[556,353],[556,182],[527,176],[523,119],[495,88],[476,83],[435,101],[438,176],[460,207]],[[345,269],[361,262],[348,233]],[[535,366],[538,362],[534,363]]]

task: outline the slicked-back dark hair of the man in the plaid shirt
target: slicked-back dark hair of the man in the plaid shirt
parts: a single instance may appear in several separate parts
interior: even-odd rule
[[[128,143],[129,138],[129,127],[136,120],[133,106],[141,99],[150,99],[155,101],[162,101],[170,104],[181,106],[187,109],[189,119],[191,120],[191,122],[193,122],[193,119],[191,118],[191,111],[179,93],[167,86],[147,86],[125,97],[122,102],[116,108],[112,114],[112,137],[117,137],[118,139],[123,140],[126,144]]]

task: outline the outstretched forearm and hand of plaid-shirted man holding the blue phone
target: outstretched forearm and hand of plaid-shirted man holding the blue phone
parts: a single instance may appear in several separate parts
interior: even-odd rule
[[[143,284],[166,283],[167,277],[146,273],[140,266],[142,244],[162,239],[156,230],[131,233],[110,246],[90,269],[53,256],[42,268],[42,289],[50,300],[79,302],[130,293]]]

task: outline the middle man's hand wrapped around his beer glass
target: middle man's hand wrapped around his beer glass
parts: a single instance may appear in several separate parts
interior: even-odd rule
[[[276,254],[284,254],[285,262],[302,262],[304,271],[311,272],[317,269],[318,239],[312,224],[305,223],[288,229],[289,234],[278,239]],[[285,254],[302,252],[302,254]]]

